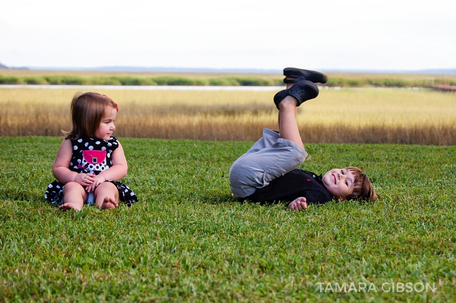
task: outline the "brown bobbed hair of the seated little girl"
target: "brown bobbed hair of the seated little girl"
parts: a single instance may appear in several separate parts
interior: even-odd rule
[[[117,108],[117,105],[105,95],[76,93],[71,101],[72,129],[70,132],[62,131],[65,139],[93,137],[108,107]]]

